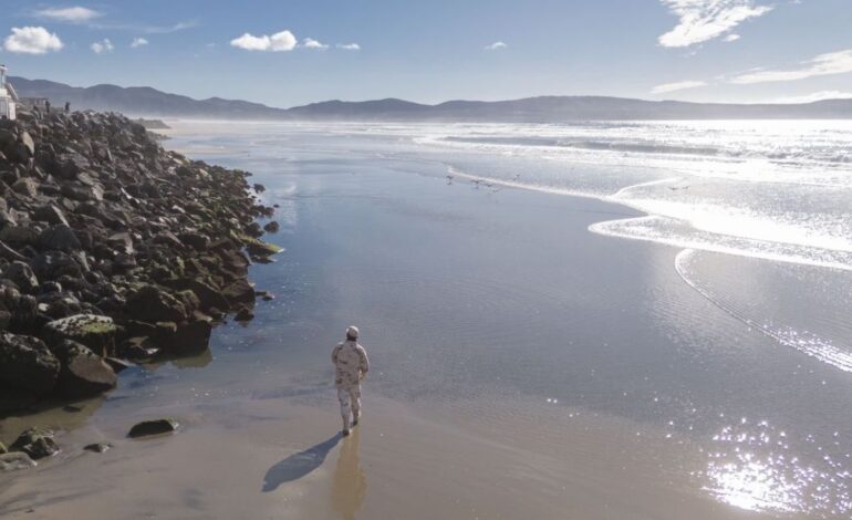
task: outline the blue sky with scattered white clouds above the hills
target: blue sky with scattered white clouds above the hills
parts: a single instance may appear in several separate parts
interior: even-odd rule
[[[294,106],[852,97],[852,0],[0,0],[0,63]]]

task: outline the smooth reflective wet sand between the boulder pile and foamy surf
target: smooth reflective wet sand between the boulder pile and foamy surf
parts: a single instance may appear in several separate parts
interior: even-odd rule
[[[0,475],[0,514],[709,519],[848,506],[848,374],[686,283],[679,249],[588,230],[634,211],[448,183],[440,162],[384,143],[270,128],[178,127],[167,143],[237,150],[200,158],[267,185],[282,225],[268,238],[288,250],[251,275],[277,299],[216,330],[207,357],[132,370],[82,412],[4,422],[2,440],[33,422],[69,433],[63,455]],[[715,270],[713,291],[772,274],[704,253],[695,269]],[[329,353],[350,323],[374,368],[363,425],[341,439]],[[159,416],[179,433],[124,438]],[[114,449],[81,453],[101,440]]]

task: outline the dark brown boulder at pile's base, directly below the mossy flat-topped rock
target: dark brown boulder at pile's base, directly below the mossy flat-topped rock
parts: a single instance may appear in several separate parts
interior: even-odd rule
[[[64,340],[54,347],[62,368],[56,391],[66,397],[87,397],[115,388],[115,371],[80,343]]]

